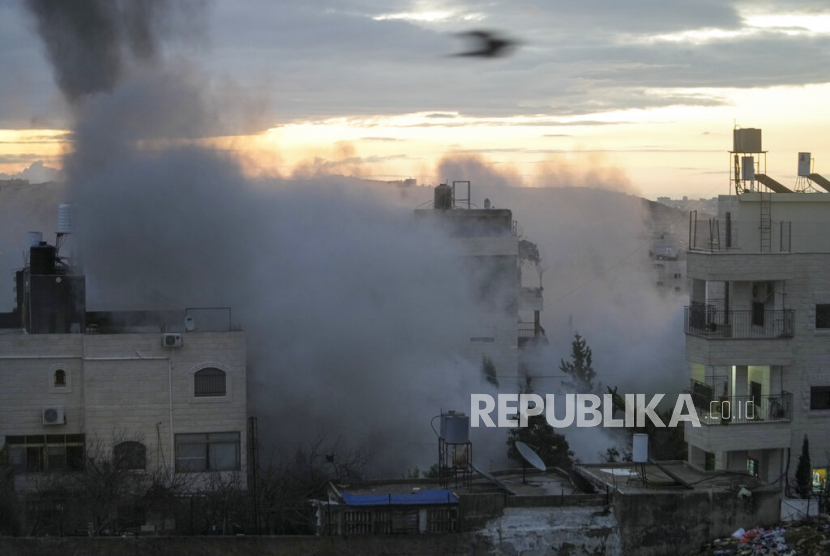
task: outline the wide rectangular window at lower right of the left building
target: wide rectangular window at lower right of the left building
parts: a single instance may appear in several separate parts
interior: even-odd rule
[[[239,433],[176,435],[176,472],[239,469]]]

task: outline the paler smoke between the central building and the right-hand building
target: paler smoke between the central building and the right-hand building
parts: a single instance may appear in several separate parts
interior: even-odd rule
[[[548,169],[550,170],[550,169]],[[510,208],[520,231],[538,244],[542,256],[545,310],[542,324],[550,345],[528,361],[531,375],[561,375],[571,341],[579,332],[594,354],[597,380],[619,392],[677,394],[685,386],[683,303],[661,297],[648,259],[652,222],[643,200],[619,193],[627,179],[611,170],[543,174],[558,186],[515,187],[520,178],[493,170],[475,157],[450,157],[438,175],[472,180],[473,202],[485,198]],[[682,215],[679,215],[682,217]],[[524,269],[525,284],[539,285],[535,269]],[[562,379],[536,379],[537,392],[559,393]],[[604,388],[603,388],[604,390]],[[674,396],[671,403],[674,403]],[[615,438],[601,429],[566,432],[571,448],[586,461]]]

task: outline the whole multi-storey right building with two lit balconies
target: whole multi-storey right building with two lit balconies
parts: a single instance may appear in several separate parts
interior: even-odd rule
[[[716,219],[690,223],[686,358],[702,426],[686,423],[689,461],[783,485],[806,435],[821,481],[830,457],[830,194],[736,190],[719,197]]]

